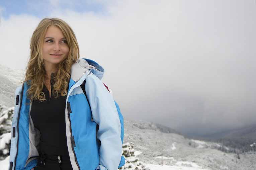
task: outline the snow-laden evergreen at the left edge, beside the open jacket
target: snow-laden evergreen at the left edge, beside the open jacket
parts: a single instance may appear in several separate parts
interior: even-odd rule
[[[11,124],[14,107],[2,111],[0,105],[0,160],[5,159],[9,155],[11,145]]]

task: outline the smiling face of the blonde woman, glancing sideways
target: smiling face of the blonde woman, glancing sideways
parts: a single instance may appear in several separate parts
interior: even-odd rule
[[[42,58],[45,65],[56,65],[63,61],[69,53],[67,40],[57,26],[47,28],[42,45]]]

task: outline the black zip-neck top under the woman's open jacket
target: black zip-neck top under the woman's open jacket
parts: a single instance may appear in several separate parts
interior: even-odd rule
[[[61,96],[59,94],[57,98],[54,98],[53,85],[54,81],[51,80],[51,98],[49,98],[49,91],[44,85],[42,92],[45,93],[47,101],[39,102],[38,100],[33,100],[30,114],[35,128],[41,134],[40,152],[66,157],[69,155],[65,123],[67,95]]]

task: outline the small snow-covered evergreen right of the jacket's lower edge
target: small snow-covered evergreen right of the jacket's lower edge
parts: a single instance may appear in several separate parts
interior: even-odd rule
[[[134,144],[129,142],[123,144],[123,156],[125,158],[125,164],[120,169],[123,170],[149,170],[145,165],[139,161],[134,155]]]

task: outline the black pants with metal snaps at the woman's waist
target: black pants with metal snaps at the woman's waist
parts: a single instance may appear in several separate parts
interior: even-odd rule
[[[70,165],[69,156],[48,155],[41,153],[34,170],[73,170]]]

